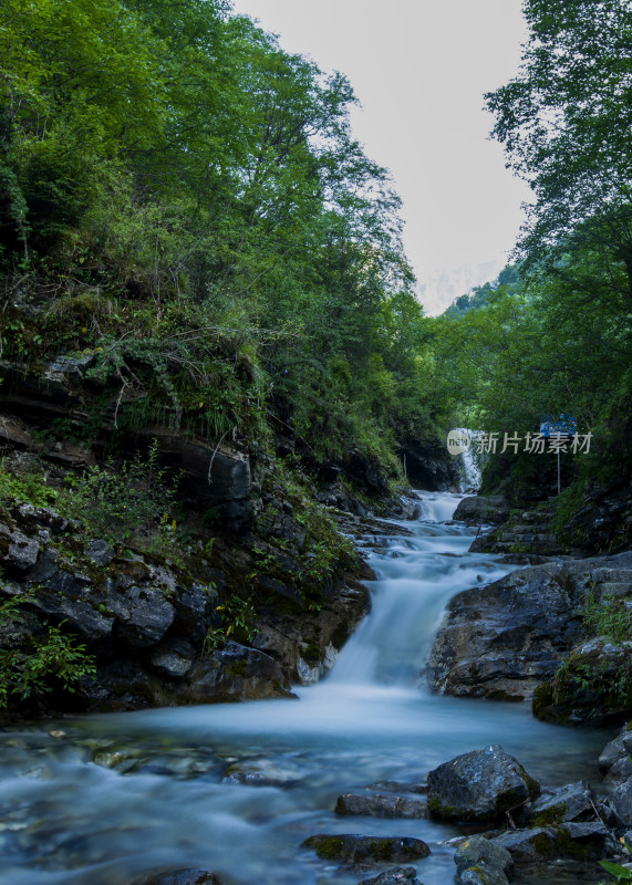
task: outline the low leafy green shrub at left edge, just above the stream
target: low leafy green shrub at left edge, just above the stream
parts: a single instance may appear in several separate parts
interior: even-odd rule
[[[23,620],[21,606],[32,597],[25,593],[0,603],[0,626],[19,625]],[[85,645],[51,626],[44,636],[32,636],[27,647],[0,648],[0,707],[7,707],[13,695],[24,700],[55,687],[73,694],[81,687],[82,677],[95,671],[94,658],[85,653]]]

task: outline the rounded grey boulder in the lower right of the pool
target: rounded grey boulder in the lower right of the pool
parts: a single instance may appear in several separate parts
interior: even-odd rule
[[[444,821],[491,823],[540,792],[522,766],[495,743],[428,773],[428,808]]]

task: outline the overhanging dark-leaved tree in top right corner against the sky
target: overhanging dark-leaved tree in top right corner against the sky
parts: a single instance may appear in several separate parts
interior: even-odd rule
[[[624,264],[632,299],[632,6],[525,0],[525,14],[520,74],[486,96],[536,196],[521,247],[552,262],[580,236]]]

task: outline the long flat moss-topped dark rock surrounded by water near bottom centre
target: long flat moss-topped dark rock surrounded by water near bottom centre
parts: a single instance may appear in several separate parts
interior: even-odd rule
[[[421,839],[405,836],[355,836],[324,834],[310,836],[303,848],[313,848],[325,861],[346,864],[380,864],[387,861],[415,861],[427,857],[431,850]],[[404,879],[405,881],[405,879]]]

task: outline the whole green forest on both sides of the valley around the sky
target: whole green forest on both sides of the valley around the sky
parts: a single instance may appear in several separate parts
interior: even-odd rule
[[[535,201],[516,263],[438,319],[343,74],[225,0],[0,14],[4,360],[91,352],[95,376],[148,394],[122,403],[123,430],[281,430],[392,479],[405,439],[558,414],[594,435],[582,469],[629,471],[626,3],[526,3],[521,73],[486,101]]]

